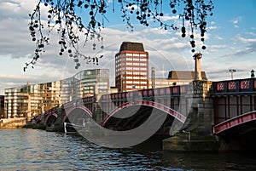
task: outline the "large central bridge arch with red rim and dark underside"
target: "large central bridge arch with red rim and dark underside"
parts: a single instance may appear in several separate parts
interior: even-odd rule
[[[173,124],[177,124],[180,128],[186,121],[186,117],[172,108],[153,101],[143,100],[119,105],[118,108],[105,117],[102,121],[102,127],[116,131],[126,131],[140,127],[148,121],[148,118],[150,118],[150,121],[146,128],[159,127],[154,135],[160,135],[161,139],[170,136],[169,132]]]

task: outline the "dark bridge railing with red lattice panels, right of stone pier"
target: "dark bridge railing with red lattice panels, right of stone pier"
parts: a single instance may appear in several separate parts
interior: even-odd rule
[[[237,79],[213,82],[213,94],[256,93],[256,79]]]

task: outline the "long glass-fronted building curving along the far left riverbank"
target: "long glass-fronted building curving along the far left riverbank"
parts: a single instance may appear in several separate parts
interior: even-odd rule
[[[73,77],[50,83],[4,89],[4,117],[32,117],[68,101],[108,94],[108,69],[79,71]]]

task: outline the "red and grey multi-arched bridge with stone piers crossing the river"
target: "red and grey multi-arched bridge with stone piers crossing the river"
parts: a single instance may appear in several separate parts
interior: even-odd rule
[[[65,123],[94,123],[84,129],[97,125],[108,130],[107,134],[129,132],[143,137],[127,144],[131,146],[160,140],[164,148],[177,151],[252,151],[256,150],[255,94],[254,78],[200,80],[189,85],[85,97],[32,120],[36,127],[53,131],[64,131]],[[120,136],[122,143],[132,139]]]

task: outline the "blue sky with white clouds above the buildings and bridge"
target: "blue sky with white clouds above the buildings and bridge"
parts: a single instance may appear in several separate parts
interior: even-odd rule
[[[250,77],[250,71],[256,71],[256,1],[255,0],[212,0],[213,16],[207,18],[205,44],[207,49],[201,52],[201,70],[206,71],[210,81],[230,79],[230,69],[236,69],[234,79]],[[23,71],[26,62],[32,59],[35,44],[28,31],[28,14],[32,13],[38,0],[1,0],[0,1],[0,94],[4,88],[13,88],[26,83],[47,83],[72,77],[77,72],[108,68],[110,84],[114,85],[114,55],[119,52],[124,41],[143,43],[149,54],[149,69],[154,66],[156,77],[166,78],[168,72],[193,71],[193,53],[189,37],[181,37],[180,31],[165,31],[156,24],[140,26],[137,20],[131,20],[133,31],[127,28],[119,17],[119,4],[115,4],[105,20],[105,28],[100,31],[104,48],[91,48],[91,42],[81,52],[90,56],[104,54],[99,65],[81,63],[75,69],[68,54],[59,55],[58,37],[51,35],[50,45],[38,60],[34,69]],[[109,3],[111,4],[111,3]],[[43,9],[46,11],[46,9]],[[163,20],[182,23],[170,9],[163,7]],[[82,43],[83,44],[83,43]],[[197,45],[196,45],[197,46]],[[200,47],[200,44],[197,46]]]

